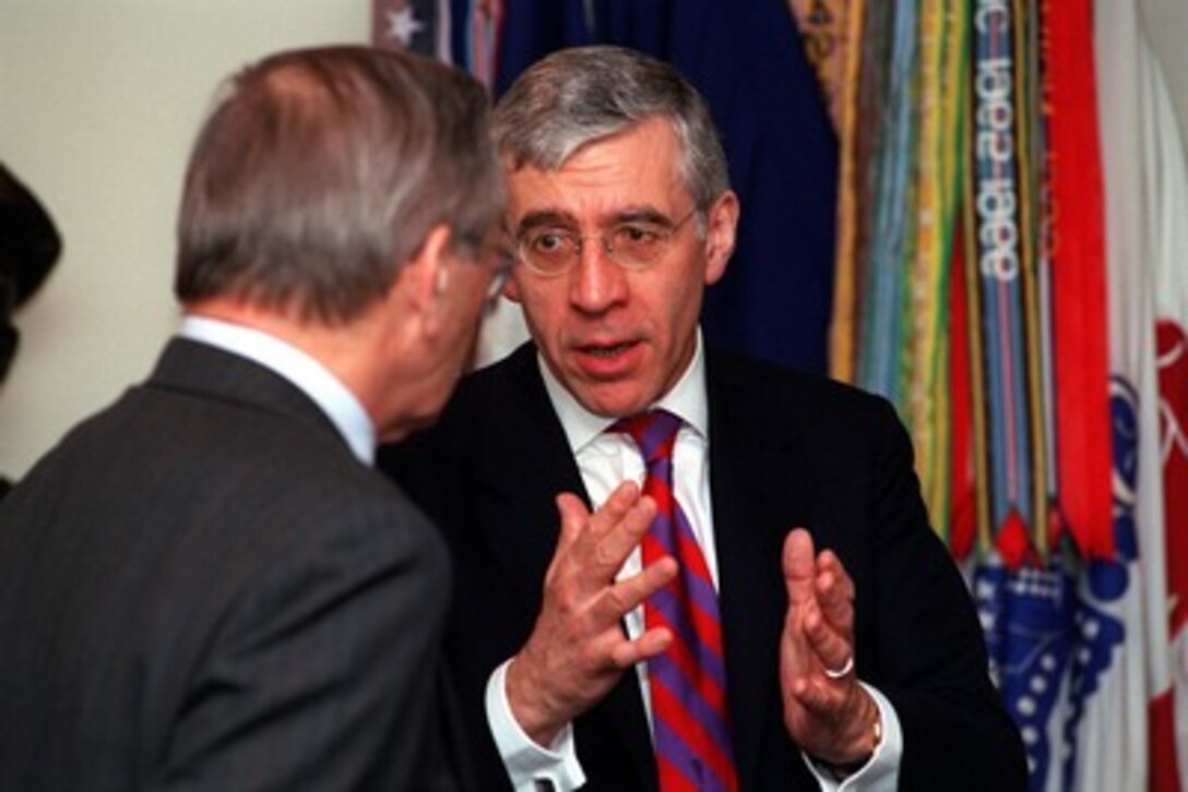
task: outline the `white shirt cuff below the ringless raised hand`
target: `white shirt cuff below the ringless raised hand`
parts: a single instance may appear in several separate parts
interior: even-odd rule
[[[487,724],[495,739],[495,747],[517,792],[554,790],[569,792],[586,783],[586,773],[577,762],[573,724],[565,727],[545,748],[538,746],[512,715],[507,702],[507,666],[495,669],[487,680]]]

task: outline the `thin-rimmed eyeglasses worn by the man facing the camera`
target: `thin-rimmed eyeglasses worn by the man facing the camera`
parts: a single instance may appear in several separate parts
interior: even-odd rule
[[[646,270],[669,249],[672,237],[690,217],[693,208],[681,220],[632,220],[598,234],[575,234],[564,228],[531,228],[517,240],[517,253],[532,272],[545,278],[557,278],[569,272],[581,259],[586,240],[596,239],[608,259],[625,270]]]

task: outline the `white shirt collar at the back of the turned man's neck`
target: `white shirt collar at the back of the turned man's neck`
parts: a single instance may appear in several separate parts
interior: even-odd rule
[[[360,462],[373,464],[371,417],[355,394],[310,355],[266,332],[202,316],[184,317],[178,335],[247,357],[285,378],[321,407]]]

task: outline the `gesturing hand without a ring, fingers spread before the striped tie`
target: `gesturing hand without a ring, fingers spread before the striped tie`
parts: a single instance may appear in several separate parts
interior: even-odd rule
[[[512,714],[539,745],[601,701],[626,669],[672,640],[663,628],[628,640],[621,619],[672,579],[676,562],[663,558],[614,579],[647,532],[655,502],[625,482],[593,514],[568,493],[557,496],[557,511],[561,536],[545,572],[541,614],[507,669]]]

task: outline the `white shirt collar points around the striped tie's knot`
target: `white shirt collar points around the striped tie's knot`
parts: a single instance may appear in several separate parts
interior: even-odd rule
[[[579,404],[577,399],[552,375],[539,353],[537,353],[537,366],[541,368],[541,376],[544,379],[544,387],[549,393],[549,400],[552,401],[552,408],[556,411],[557,418],[561,419],[561,426],[565,430],[569,449],[576,454],[605,432],[607,426],[614,422],[605,416],[595,416]],[[706,356],[700,328],[697,329],[697,346],[694,349],[693,360],[689,361],[689,367],[684,369],[684,374],[681,375],[676,385],[651,407],[671,412],[702,438],[709,437]]]

